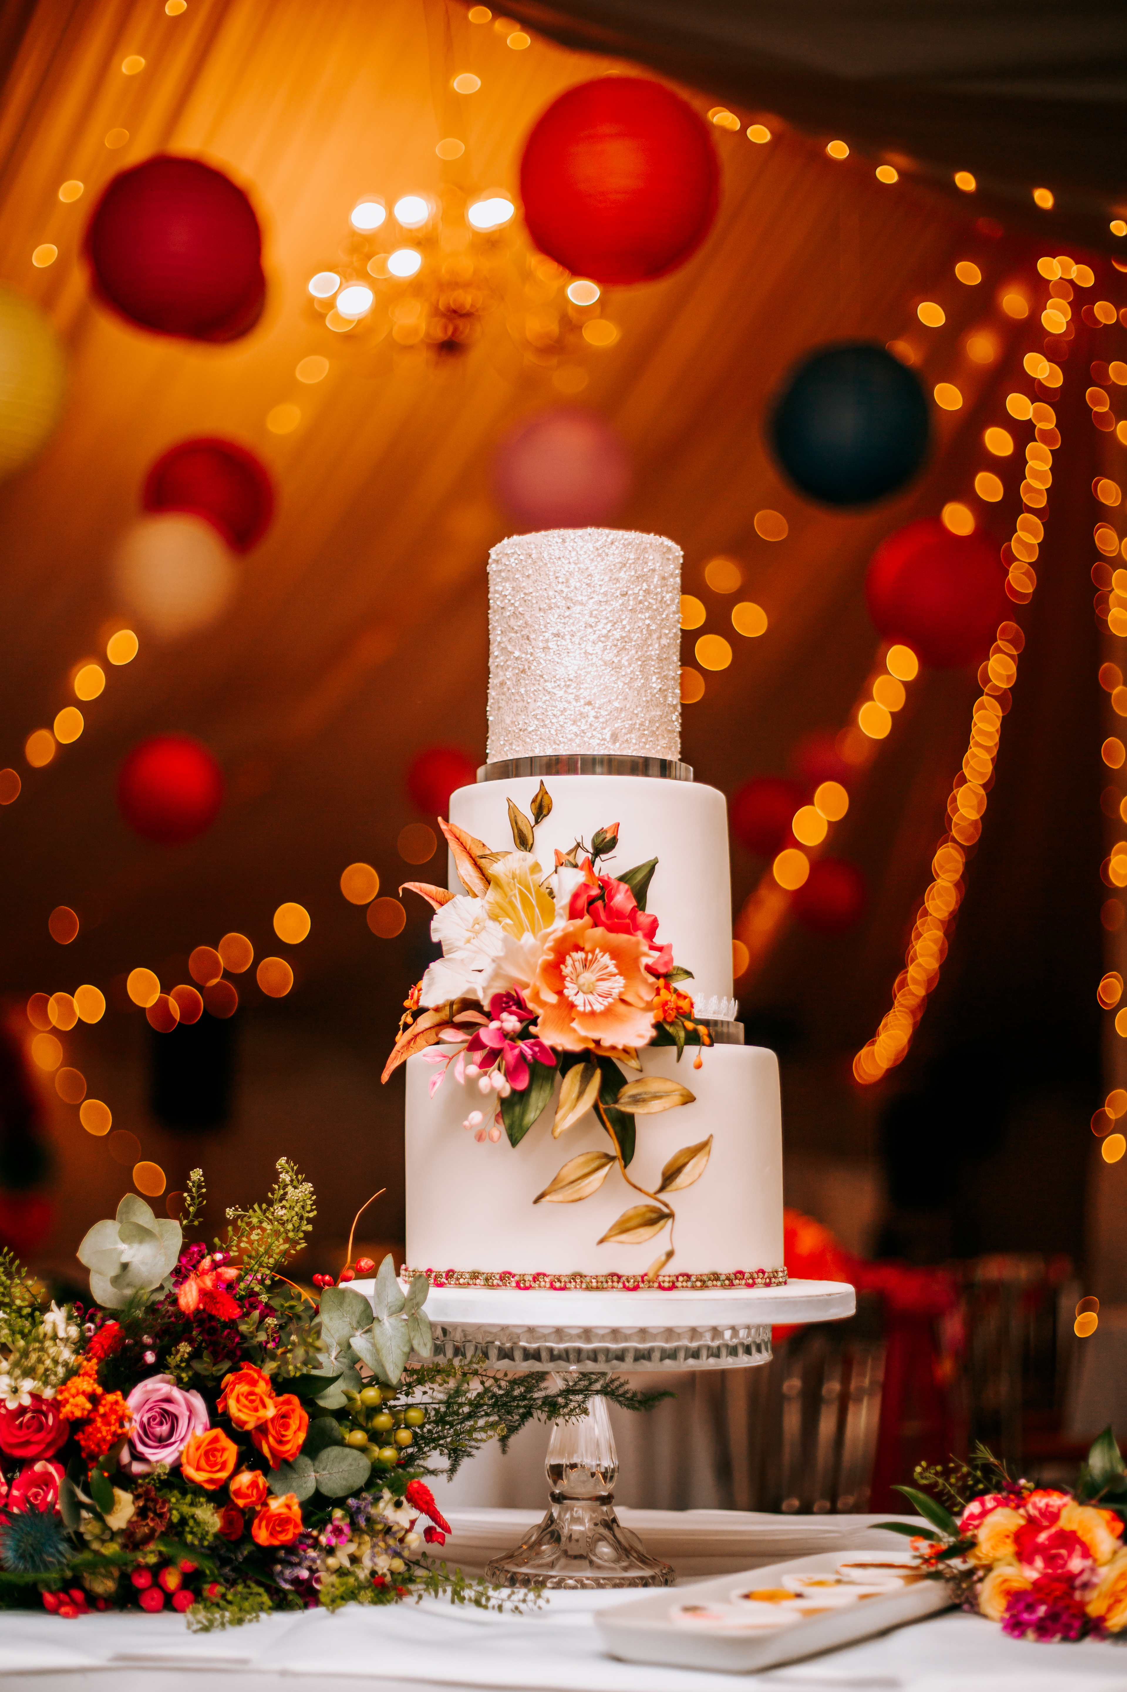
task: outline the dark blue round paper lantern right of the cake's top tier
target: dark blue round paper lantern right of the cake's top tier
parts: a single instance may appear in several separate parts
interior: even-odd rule
[[[781,387],[769,440],[799,492],[826,506],[867,506],[923,465],[928,399],[916,372],[884,347],[821,347]]]

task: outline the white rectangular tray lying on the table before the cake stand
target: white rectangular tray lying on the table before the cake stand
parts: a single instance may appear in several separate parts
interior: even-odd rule
[[[855,1640],[872,1638],[874,1633],[902,1628],[909,1621],[923,1621],[924,1616],[934,1616],[955,1602],[943,1580],[921,1580],[919,1585],[867,1597],[818,1616],[804,1616],[792,1626],[772,1628],[767,1633],[713,1631],[672,1621],[672,1612],[683,1604],[728,1604],[742,1585],[770,1587],[779,1585],[782,1575],[833,1574],[843,1555],[857,1553],[823,1552],[819,1557],[769,1563],[747,1575],[718,1575],[693,1585],[664,1587],[629,1604],[613,1604],[600,1611],[595,1621],[612,1656],[620,1656],[623,1662],[750,1673],[777,1663],[792,1663],[816,1651],[833,1651]]]

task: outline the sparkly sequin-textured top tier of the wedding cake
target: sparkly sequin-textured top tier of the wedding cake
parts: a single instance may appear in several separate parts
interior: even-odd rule
[[[681,548],[627,530],[490,553],[488,761],[681,756]]]

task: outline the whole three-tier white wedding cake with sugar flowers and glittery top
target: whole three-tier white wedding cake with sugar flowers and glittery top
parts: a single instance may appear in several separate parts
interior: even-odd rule
[[[681,552],[490,555],[488,761],[407,1002],[407,1264],[455,1286],[774,1286],[774,1052],[732,998],[728,831],[681,758]]]

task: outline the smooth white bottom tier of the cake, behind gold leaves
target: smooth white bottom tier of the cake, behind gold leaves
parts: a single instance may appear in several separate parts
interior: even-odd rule
[[[662,1166],[683,1145],[715,1135],[703,1176],[672,1193],[676,1257],[666,1274],[715,1274],[782,1266],[782,1132],[779,1066],[759,1046],[693,1051],[645,1047],[645,1074],[681,1081],[691,1105],[637,1118],[630,1174],[654,1191]],[[634,1071],[632,1071],[634,1073]],[[476,1142],[461,1123],[480,1103],[453,1073],[429,1096],[434,1068],[407,1061],[407,1262],[412,1269],[515,1271],[522,1274],[644,1274],[667,1230],[640,1245],[600,1235],[623,1210],[644,1203],[612,1169],[602,1188],[574,1205],[532,1200],[556,1171],[610,1140],[593,1115],[559,1139],[551,1135],[554,1098],[519,1145]],[[559,1086],[556,1086],[556,1095]]]

